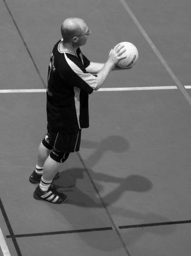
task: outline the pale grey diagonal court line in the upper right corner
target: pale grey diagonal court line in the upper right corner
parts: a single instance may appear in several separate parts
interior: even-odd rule
[[[128,12],[128,14],[130,15],[130,17],[132,18],[132,20],[134,21],[134,23],[137,25],[138,29],[140,30],[140,32],[142,33],[142,35],[144,36],[144,38],[147,40],[148,44],[151,46],[152,50],[155,52],[155,54],[157,55],[157,57],[159,58],[159,60],[161,61],[161,63],[163,64],[163,66],[165,67],[165,69],[168,71],[168,73],[170,74],[171,78],[174,80],[174,82],[176,83],[177,87],[181,90],[182,94],[184,95],[184,97],[188,100],[189,104],[191,105],[191,98],[189,96],[189,94],[187,93],[187,91],[184,89],[184,87],[181,85],[180,81],[178,80],[178,78],[175,76],[175,74],[173,73],[173,71],[171,70],[171,68],[169,67],[169,65],[167,64],[167,62],[164,60],[164,58],[162,57],[162,55],[160,54],[160,52],[158,51],[157,47],[153,44],[153,42],[151,41],[150,37],[147,35],[147,33],[145,32],[145,30],[143,29],[143,27],[141,26],[141,24],[139,23],[138,19],[134,16],[133,12],[131,11],[131,9],[129,8],[129,6],[127,5],[127,3],[125,2],[125,0],[120,0],[120,2],[122,3],[122,5],[124,6],[125,10]]]

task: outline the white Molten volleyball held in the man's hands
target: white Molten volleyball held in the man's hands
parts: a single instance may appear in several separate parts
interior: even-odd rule
[[[120,44],[124,45],[124,48],[126,49],[126,51],[122,54],[122,56],[125,55],[126,58],[123,60],[120,60],[117,63],[117,65],[120,68],[129,69],[137,62],[139,58],[138,50],[132,43],[122,42]]]

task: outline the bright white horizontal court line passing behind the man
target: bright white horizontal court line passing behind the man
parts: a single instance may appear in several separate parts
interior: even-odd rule
[[[141,91],[141,90],[169,90],[178,89],[177,86],[150,86],[150,87],[122,87],[122,88],[100,88],[99,91]],[[46,92],[47,89],[15,89],[15,90],[0,90],[0,93],[14,92]]]

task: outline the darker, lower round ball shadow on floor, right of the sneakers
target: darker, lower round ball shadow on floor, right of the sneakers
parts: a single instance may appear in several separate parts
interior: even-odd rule
[[[140,175],[130,175],[124,180],[124,186],[127,191],[147,192],[152,189],[152,182]]]

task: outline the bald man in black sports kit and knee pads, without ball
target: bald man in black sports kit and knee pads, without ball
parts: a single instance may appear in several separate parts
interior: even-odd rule
[[[88,94],[98,90],[115,64],[124,59],[123,45],[111,49],[106,63],[90,62],[80,50],[91,31],[79,18],[68,18],[61,26],[62,39],[54,45],[48,69],[47,130],[38,150],[36,170],[30,182],[40,184],[33,196],[60,204],[67,196],[52,184],[59,177],[60,164],[70,152],[79,151],[81,129],[89,127]],[[95,75],[96,74],[96,75]]]

